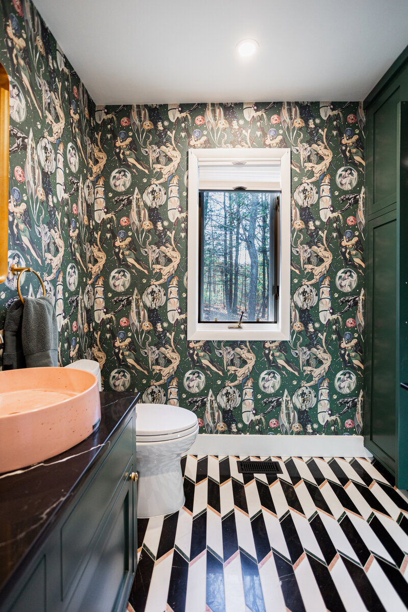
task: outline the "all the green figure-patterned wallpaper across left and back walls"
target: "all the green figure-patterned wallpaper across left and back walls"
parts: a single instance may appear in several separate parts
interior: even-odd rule
[[[45,280],[60,364],[98,360],[105,389],[189,408],[202,433],[361,433],[362,106],[95,108],[31,2],[1,15],[9,261]],[[290,341],[187,340],[189,147],[291,147]],[[15,285],[0,286],[0,328]]]

